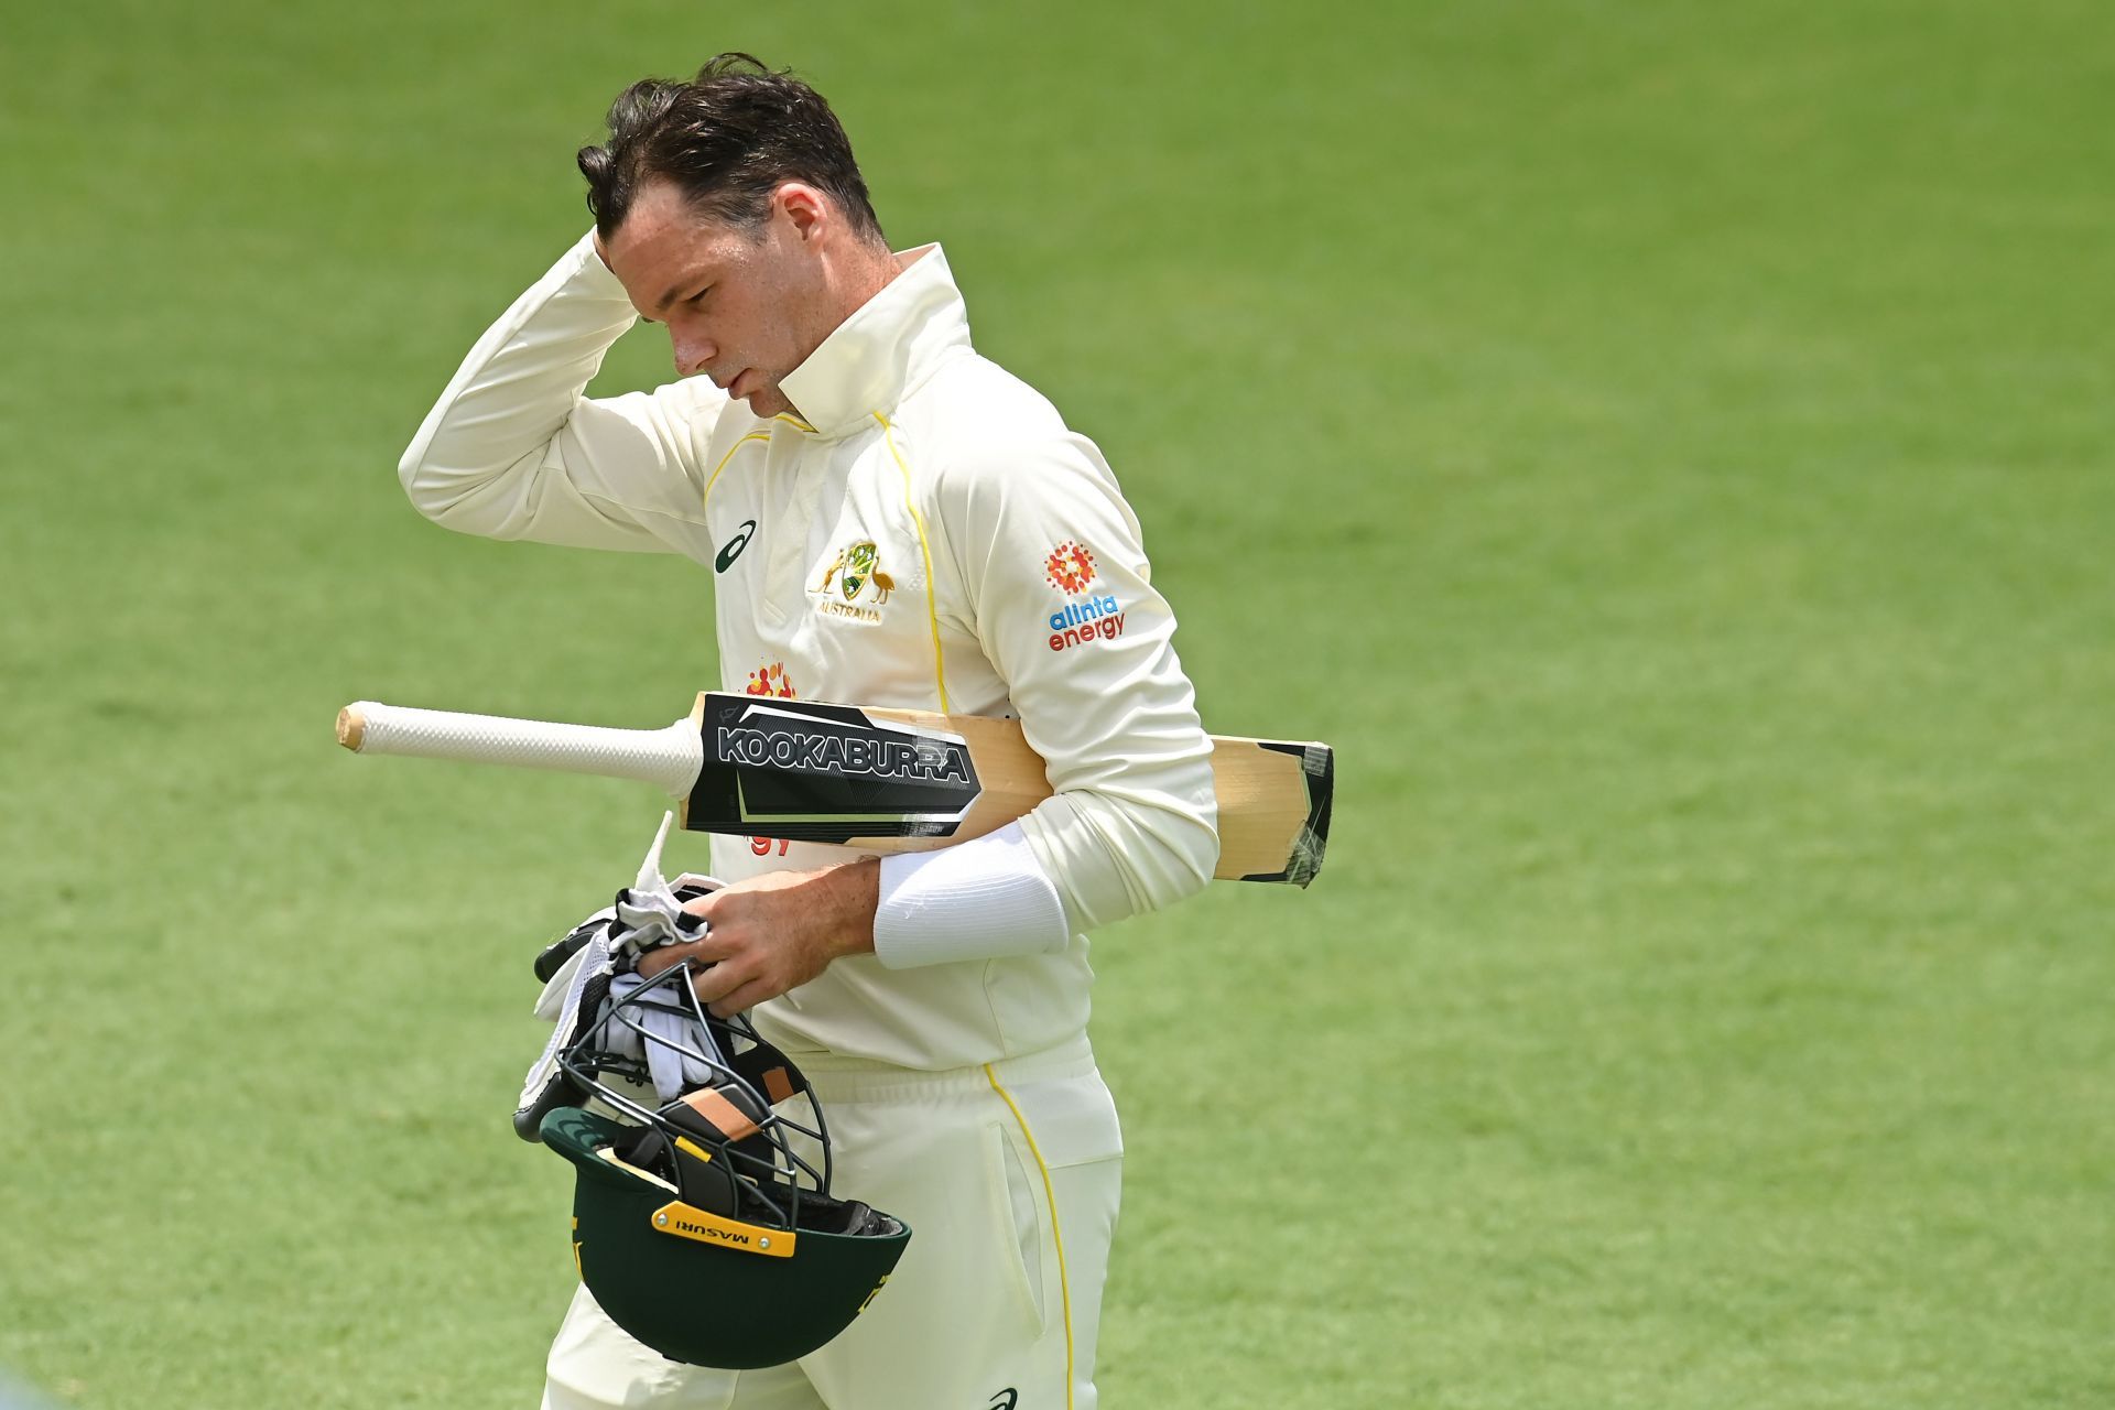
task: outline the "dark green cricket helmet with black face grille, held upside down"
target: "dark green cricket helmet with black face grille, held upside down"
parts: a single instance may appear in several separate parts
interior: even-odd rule
[[[829,1194],[808,1080],[744,1015],[706,1013],[692,979],[683,962],[620,985],[558,1053],[580,1097],[613,1116],[558,1106],[537,1135],[575,1167],[573,1258],[611,1321],[670,1361],[778,1366],[865,1309],[912,1230]],[[645,1084],[670,1059],[685,1091],[658,1101]]]

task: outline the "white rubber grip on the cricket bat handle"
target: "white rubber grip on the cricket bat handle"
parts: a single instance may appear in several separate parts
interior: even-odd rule
[[[415,710],[374,700],[360,700],[338,710],[338,744],[362,755],[461,759],[637,778],[660,784],[670,797],[689,793],[704,765],[698,727],[681,719],[666,729],[603,729],[499,715]]]

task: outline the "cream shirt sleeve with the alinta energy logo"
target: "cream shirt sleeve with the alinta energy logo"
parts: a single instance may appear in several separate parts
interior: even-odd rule
[[[1053,797],[1022,833],[1091,930],[1203,890],[1218,865],[1212,742],[1138,518],[1093,442],[1051,431],[943,471],[973,621]]]

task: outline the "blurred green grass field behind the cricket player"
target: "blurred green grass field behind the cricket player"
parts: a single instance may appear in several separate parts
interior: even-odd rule
[[[1339,748],[1313,890],[1096,939],[1104,1404],[2115,1404],[2073,0],[11,13],[0,1366],[535,1402],[527,958],[658,808],[328,723],[711,674],[696,567],[391,469],[607,99],[719,49],[831,95],[1108,452],[1208,723]]]

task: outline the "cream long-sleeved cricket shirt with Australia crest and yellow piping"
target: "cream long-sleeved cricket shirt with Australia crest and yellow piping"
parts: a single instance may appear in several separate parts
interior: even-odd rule
[[[941,249],[897,262],[787,374],[799,414],[757,419],[702,376],[582,395],[637,319],[584,237],[472,349],[404,490],[463,533],[689,556],[721,689],[1017,717],[1055,791],[1022,831],[1074,930],[1201,890],[1210,742],[1138,520],[1093,442],[975,353]],[[730,882],[846,854],[713,837]],[[795,1053],[941,1070],[1079,1034],[1089,983],[1083,934],[907,970],[850,956],[755,1019]]]

